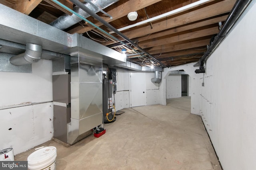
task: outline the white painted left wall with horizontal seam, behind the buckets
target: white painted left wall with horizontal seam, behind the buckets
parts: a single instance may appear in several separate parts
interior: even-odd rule
[[[0,146],[14,154],[53,137],[52,61],[32,64],[32,73],[0,72]],[[33,104],[47,102],[44,104]],[[14,107],[29,103],[32,105]],[[10,107],[8,109],[6,106]],[[11,108],[14,107],[14,108]],[[8,130],[12,128],[11,130]]]

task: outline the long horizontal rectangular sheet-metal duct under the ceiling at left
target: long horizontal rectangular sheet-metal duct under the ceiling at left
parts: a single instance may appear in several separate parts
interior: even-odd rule
[[[50,53],[44,54],[44,50],[53,51],[65,55],[73,53],[85,54],[91,63],[94,61],[101,61],[105,64],[125,63],[126,57],[122,57],[121,53],[105,47],[95,41],[88,39],[80,34],[69,34],[65,31],[52,27],[47,23],[36,20],[30,16],[22,14],[12,8],[0,4],[0,45],[1,51],[6,50],[2,40],[13,42],[17,46],[20,44],[20,53],[24,52],[26,43],[34,43],[43,47],[42,58],[54,59],[58,56],[51,55]],[[13,46],[13,45],[12,45]],[[13,52],[13,50],[12,50]],[[59,56],[62,57],[62,56]],[[85,58],[85,57],[84,57]]]

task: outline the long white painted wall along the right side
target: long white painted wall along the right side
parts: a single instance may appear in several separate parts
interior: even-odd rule
[[[207,60],[200,87],[202,119],[224,170],[256,167],[255,16],[252,1]]]

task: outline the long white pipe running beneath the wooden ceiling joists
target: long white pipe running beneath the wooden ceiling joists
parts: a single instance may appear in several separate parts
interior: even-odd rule
[[[132,28],[132,27],[136,27],[136,26],[138,26],[138,25],[142,25],[142,24],[144,24],[144,23],[156,21],[156,20],[159,20],[159,19],[164,18],[164,17],[166,17],[166,16],[171,16],[171,15],[174,15],[174,14],[178,14],[178,13],[183,12],[183,11],[185,11],[185,10],[189,10],[189,9],[191,9],[191,8],[195,8],[195,7],[197,7],[197,6],[200,6],[200,5],[202,5],[202,4],[206,4],[207,2],[211,2],[211,1],[213,1],[213,0],[199,0],[199,1],[196,1],[196,2],[194,2],[194,3],[192,3],[192,4],[188,4],[188,5],[186,5],[186,6],[182,6],[182,7],[178,8],[178,9],[175,9],[175,10],[172,10],[172,11],[169,11],[169,12],[166,12],[166,13],[164,13],[164,14],[161,14],[161,15],[159,15],[159,16],[155,16],[155,17],[153,17],[153,18],[149,18],[148,20],[140,21],[140,22],[134,23],[134,24],[132,24],[132,25],[128,25],[128,26],[126,26],[126,27],[119,28],[119,29],[117,29],[117,30],[118,30],[118,31],[123,31],[123,30],[129,29],[129,28]],[[109,33],[112,34],[112,33],[114,33],[114,31],[110,31]]]

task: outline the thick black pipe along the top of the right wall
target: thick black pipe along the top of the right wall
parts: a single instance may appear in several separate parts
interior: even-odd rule
[[[200,66],[200,69],[197,69],[196,73],[201,73],[199,70],[201,68],[204,69],[204,62],[210,57],[212,52],[218,47],[220,42],[226,37],[232,26],[236,23],[238,18],[242,15],[246,7],[250,4],[252,0],[237,0],[234,4],[232,10],[230,11],[228,18],[224,22],[224,25],[220,29],[220,32],[215,37],[214,41],[210,45],[210,47],[207,49],[206,53],[202,56],[202,58],[198,61],[198,63],[194,64],[194,67]],[[205,72],[205,70],[202,70],[202,72]]]

